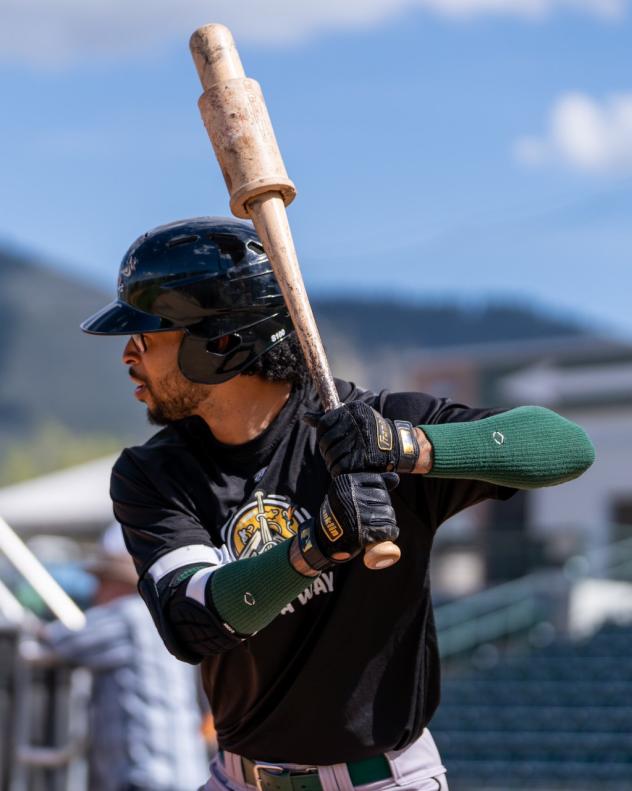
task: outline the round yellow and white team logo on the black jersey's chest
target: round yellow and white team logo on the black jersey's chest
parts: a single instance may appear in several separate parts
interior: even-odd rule
[[[292,538],[306,519],[309,513],[287,497],[258,490],[226,523],[222,535],[235,558],[249,558]]]

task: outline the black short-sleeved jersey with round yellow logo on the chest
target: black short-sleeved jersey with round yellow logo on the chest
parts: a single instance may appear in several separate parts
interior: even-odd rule
[[[421,393],[361,391],[361,399],[413,424],[476,420],[470,409]],[[225,445],[198,417],[129,448],[112,475],[112,499],[139,574],[189,545],[248,557],[290,538],[316,515],[329,474],[316,432],[301,420],[319,408],[298,389],[274,423],[243,445]],[[512,489],[467,480],[402,476],[391,493],[400,562],[369,571],[361,558],[324,572],[261,632],[202,663],[219,744],[252,759],[333,764],[414,741],[439,701],[439,657],[428,561],[437,527]]]

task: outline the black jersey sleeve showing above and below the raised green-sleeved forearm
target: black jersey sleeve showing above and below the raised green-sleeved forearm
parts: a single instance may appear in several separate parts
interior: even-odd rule
[[[432,423],[465,423],[482,420],[504,410],[473,408],[436,398],[426,393],[381,393],[374,408],[391,419],[408,420],[414,426]],[[423,511],[433,530],[451,516],[483,500],[508,500],[516,489],[485,481],[449,478],[427,478],[423,475],[406,476],[411,479],[402,486],[415,499],[415,510]],[[396,490],[397,491],[397,490]]]

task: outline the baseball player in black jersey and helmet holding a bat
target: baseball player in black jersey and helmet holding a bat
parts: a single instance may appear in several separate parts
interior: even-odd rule
[[[123,451],[111,494],[165,644],[202,663],[220,747],[206,788],[447,788],[427,730],[435,530],[580,475],[583,430],[345,381],[323,415],[263,248],[234,220],[141,236],[82,328],[131,336],[135,396],[164,426]],[[369,571],[383,540],[401,560]]]

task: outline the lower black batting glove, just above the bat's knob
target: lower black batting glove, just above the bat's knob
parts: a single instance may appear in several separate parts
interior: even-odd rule
[[[395,473],[358,472],[334,478],[318,516],[298,530],[306,563],[321,571],[356,557],[369,544],[395,541],[399,535],[389,491]]]

